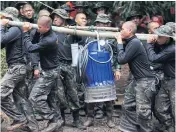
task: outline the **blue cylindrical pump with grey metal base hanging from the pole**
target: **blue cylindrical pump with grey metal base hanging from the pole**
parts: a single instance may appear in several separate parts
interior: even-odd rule
[[[97,41],[92,41],[88,45],[88,54],[93,59],[106,62],[110,59],[110,52],[103,46],[98,51]],[[116,99],[116,89],[111,61],[98,63],[88,58],[86,67],[86,92],[85,102],[104,102]]]

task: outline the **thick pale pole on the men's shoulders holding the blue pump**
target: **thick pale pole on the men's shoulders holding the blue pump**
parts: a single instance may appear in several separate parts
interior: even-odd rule
[[[9,21],[9,25],[12,26],[19,26],[22,27],[23,26],[23,22],[17,22],[17,21]],[[36,28],[38,29],[38,25],[37,24],[32,24],[32,28]],[[87,36],[87,37],[97,37],[99,36],[99,38],[115,38],[114,36],[119,33],[119,32],[91,32],[91,31],[83,31],[83,30],[77,30],[77,29],[69,29],[66,27],[56,27],[56,26],[52,26],[52,30],[59,32],[59,33],[65,33],[65,34],[71,34],[71,35],[78,35],[78,36]],[[136,34],[137,38],[140,40],[147,40],[149,35],[154,35],[154,34]],[[174,38],[175,40],[175,38]]]

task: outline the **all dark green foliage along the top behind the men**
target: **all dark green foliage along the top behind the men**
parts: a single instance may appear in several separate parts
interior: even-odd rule
[[[87,3],[89,4],[90,9],[92,9],[97,2],[98,1],[89,1]],[[14,6],[15,3],[16,1],[1,1],[1,9],[8,6]],[[36,12],[35,16],[40,9],[46,8],[46,6],[38,1],[29,1],[29,3],[34,6]],[[42,3],[56,9],[60,5],[66,3],[66,1],[42,1]],[[153,14],[161,14],[164,16],[165,21],[175,21],[175,14],[170,14],[170,8],[175,8],[175,1],[105,1],[105,4],[110,7],[110,11],[117,7],[123,7],[122,18],[124,19],[135,9],[142,12],[144,15],[151,16]],[[49,10],[52,11],[51,9]]]

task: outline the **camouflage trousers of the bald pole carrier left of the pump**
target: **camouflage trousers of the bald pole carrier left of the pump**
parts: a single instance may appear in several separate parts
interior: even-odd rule
[[[56,81],[60,79],[60,68],[46,70],[41,72],[41,76],[37,79],[32,91],[29,95],[29,100],[33,105],[33,109],[38,120],[59,120],[60,113],[55,109],[51,109],[47,98],[50,94]],[[51,95],[52,96],[52,95]]]

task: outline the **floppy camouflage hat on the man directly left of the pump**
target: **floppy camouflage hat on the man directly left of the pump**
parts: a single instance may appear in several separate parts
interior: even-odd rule
[[[50,15],[52,19],[54,17],[54,14],[60,16],[63,19],[70,19],[67,11],[64,9],[55,9]]]

